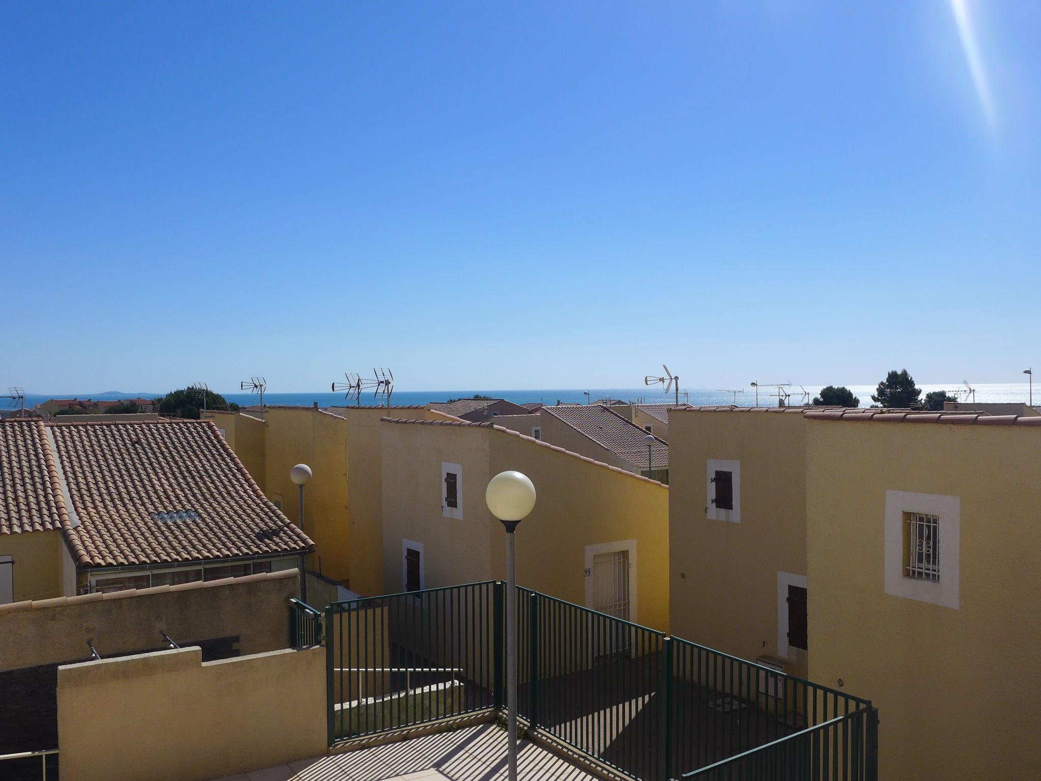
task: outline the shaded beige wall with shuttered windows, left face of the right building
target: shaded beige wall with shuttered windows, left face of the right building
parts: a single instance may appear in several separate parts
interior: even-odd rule
[[[807,574],[806,421],[763,408],[674,410],[669,423],[672,632],[745,659],[787,652],[778,573]],[[710,458],[740,462],[740,523],[708,518]],[[822,631],[810,627],[811,656]],[[805,675],[805,657],[788,652],[789,672]]]

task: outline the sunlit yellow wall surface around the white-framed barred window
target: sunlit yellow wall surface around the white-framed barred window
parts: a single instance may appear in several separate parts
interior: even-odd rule
[[[880,778],[1036,777],[1041,428],[808,423],[810,678],[879,706]],[[886,593],[887,492],[959,500],[957,608]]]

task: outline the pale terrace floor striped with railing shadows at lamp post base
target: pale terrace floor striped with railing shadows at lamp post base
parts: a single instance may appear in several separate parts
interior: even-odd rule
[[[506,732],[492,724],[467,727],[229,776],[221,781],[505,781]],[[522,781],[594,781],[595,777],[522,740]]]

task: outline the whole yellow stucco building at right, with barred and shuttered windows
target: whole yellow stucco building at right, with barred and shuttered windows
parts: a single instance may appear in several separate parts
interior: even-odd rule
[[[870,699],[880,778],[1031,778],[1039,422],[671,411],[672,631]]]

